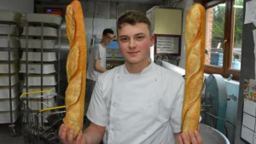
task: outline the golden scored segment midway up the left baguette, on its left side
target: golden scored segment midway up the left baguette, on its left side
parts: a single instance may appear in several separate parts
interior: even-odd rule
[[[79,68],[79,43],[76,42],[73,49],[67,55],[67,81],[70,81],[70,78],[73,77],[76,71]]]

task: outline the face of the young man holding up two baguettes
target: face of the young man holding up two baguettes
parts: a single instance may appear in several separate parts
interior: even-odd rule
[[[118,43],[121,55],[131,64],[148,62],[149,48],[154,43],[154,35],[149,35],[148,25],[137,23],[122,24],[118,30]]]

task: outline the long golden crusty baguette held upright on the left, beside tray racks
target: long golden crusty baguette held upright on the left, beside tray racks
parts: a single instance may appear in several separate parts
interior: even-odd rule
[[[73,0],[67,6],[65,18],[70,51],[67,55],[66,65],[68,85],[65,96],[66,117],[64,124],[68,128],[73,127],[75,129],[74,138],[76,138],[79,131],[82,130],[84,122],[87,60],[84,16],[81,3],[78,0]]]

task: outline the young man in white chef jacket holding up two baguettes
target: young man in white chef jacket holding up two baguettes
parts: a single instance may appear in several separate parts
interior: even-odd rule
[[[90,126],[73,141],[61,125],[63,143],[189,144],[181,132],[184,81],[148,58],[154,43],[148,18],[130,11],[119,17],[118,43],[125,65],[104,72],[96,82],[87,117]],[[189,132],[201,144],[197,131]]]

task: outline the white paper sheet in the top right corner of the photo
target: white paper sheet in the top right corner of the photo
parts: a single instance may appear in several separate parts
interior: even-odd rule
[[[246,3],[246,14],[244,19],[244,24],[256,22],[256,0],[249,1]]]

